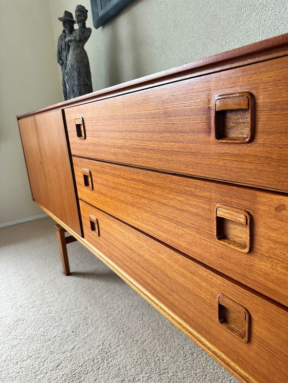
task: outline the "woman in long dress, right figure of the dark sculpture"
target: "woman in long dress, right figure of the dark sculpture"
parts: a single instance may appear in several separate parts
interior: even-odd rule
[[[84,49],[92,33],[92,29],[86,27],[87,12],[83,5],[77,5],[75,20],[78,29],[66,37],[66,42],[70,46],[65,71],[68,99],[93,92],[88,55]]]

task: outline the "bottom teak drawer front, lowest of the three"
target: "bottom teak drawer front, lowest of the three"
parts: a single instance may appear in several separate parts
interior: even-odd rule
[[[85,240],[244,369],[251,376],[247,381],[287,381],[284,309],[86,203],[80,208]]]

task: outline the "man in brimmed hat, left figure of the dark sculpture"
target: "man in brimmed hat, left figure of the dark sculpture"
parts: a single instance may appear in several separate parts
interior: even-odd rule
[[[57,45],[57,61],[61,65],[62,70],[62,88],[64,100],[68,100],[67,89],[65,82],[65,70],[67,65],[67,58],[69,53],[69,44],[66,43],[66,36],[71,34],[74,31],[74,24],[76,21],[73,18],[73,14],[68,11],[64,11],[63,17],[58,17],[63,23],[63,32],[59,36],[58,45]]]

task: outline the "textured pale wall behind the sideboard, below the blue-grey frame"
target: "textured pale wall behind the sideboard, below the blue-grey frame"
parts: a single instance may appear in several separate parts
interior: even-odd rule
[[[135,0],[104,27],[93,28],[86,50],[94,90],[288,32],[287,0]],[[77,3],[51,0],[57,17]]]

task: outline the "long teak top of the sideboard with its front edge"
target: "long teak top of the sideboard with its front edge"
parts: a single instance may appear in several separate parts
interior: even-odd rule
[[[88,93],[75,99],[67,100],[37,111],[22,114],[21,116],[17,116],[17,118],[21,119],[32,116],[36,113],[111,98],[120,94],[135,92],[141,89],[147,89],[175,81],[186,80],[196,76],[270,60],[285,55],[288,55],[288,33],[249,44],[244,47],[232,49],[227,52],[215,54],[205,59],[197,60],[189,64],[184,64],[172,69],[154,73],[109,88],[101,89],[93,93]]]

